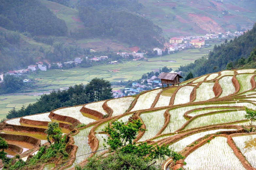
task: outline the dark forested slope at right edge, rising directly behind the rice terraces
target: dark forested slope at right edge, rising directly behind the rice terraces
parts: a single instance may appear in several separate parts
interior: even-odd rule
[[[182,75],[187,75],[190,71],[194,77],[204,74],[225,70],[228,63],[232,62],[229,67],[238,64],[238,60],[242,57],[245,59],[250,55],[256,46],[256,24],[244,35],[230,40],[225,43],[214,46],[213,51],[208,56],[196,60],[194,63],[186,66],[180,66],[179,71],[183,71]],[[240,64],[241,65],[241,64]]]

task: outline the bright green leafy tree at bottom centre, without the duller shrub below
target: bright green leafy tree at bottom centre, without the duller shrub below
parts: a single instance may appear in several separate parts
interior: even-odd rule
[[[113,151],[120,151],[123,154],[135,154],[145,161],[153,161],[155,159],[165,159],[165,155],[173,160],[183,159],[184,157],[177,152],[169,149],[168,145],[153,146],[146,142],[137,144],[133,142],[139,131],[145,131],[141,128],[140,120],[131,120],[125,124],[124,122],[115,121],[105,128],[105,132],[109,135],[107,144]]]

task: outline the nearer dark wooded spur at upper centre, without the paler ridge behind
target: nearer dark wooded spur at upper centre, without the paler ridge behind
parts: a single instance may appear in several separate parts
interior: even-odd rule
[[[114,10],[98,11],[93,7],[80,7],[79,16],[86,28],[78,34],[73,33],[76,37],[116,38],[121,42],[143,47],[163,43],[160,37],[162,29],[159,26],[132,13]]]

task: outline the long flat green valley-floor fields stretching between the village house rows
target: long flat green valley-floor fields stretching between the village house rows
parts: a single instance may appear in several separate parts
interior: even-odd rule
[[[193,63],[196,59],[207,55],[212,48],[213,45],[210,48],[184,50],[162,57],[148,58],[147,62],[125,61],[122,64],[96,65],[89,68],[73,68],[63,71],[47,70],[35,75],[35,78],[39,78],[36,86],[41,86],[45,90],[60,89],[79,83],[87,84],[95,77],[104,78],[110,82],[135,80],[141,78],[143,74],[151,72],[152,69],[167,66],[176,70],[180,65]]]

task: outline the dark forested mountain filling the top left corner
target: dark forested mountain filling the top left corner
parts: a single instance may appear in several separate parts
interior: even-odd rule
[[[31,35],[65,35],[67,26],[63,20],[38,0],[0,0],[0,26]]]

